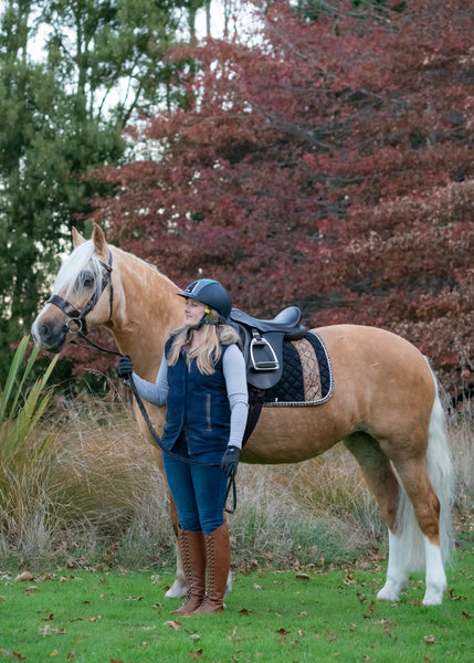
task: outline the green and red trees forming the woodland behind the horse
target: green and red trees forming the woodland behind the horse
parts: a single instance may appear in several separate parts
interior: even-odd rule
[[[48,4],[53,13],[81,2]],[[192,30],[182,38],[179,3],[135,2],[135,28],[130,23],[128,32],[119,19],[130,20],[131,3],[88,4],[102,11],[104,35],[94,38],[96,49],[110,45],[115,34],[110,51],[116,56],[124,49],[123,64],[135,53],[141,83],[131,76],[133,105],[120,101],[98,117],[98,91],[118,80],[112,64],[98,50],[94,57],[91,52],[81,92],[77,69],[61,60],[63,83],[73,74],[77,81],[76,96],[69,96],[67,85],[49,90],[57,112],[57,98],[71,104],[70,124],[62,110],[64,124],[57,122],[46,151],[40,137],[46,125],[53,133],[54,118],[33,95],[30,125],[14,125],[23,139],[30,136],[28,149],[15,154],[15,182],[6,161],[11,127],[0,133],[3,339],[15,340],[12,328],[17,340],[21,327],[28,329],[57,254],[69,250],[71,225],[87,231],[96,221],[112,243],[156,264],[182,287],[210,276],[231,291],[235,306],[259,317],[296,304],[308,326],[348,322],[391,329],[430,357],[453,394],[468,389],[474,361],[468,3],[225,3],[227,31],[202,40]],[[183,4],[179,15],[189,19]],[[120,14],[126,6],[129,13]],[[155,32],[133,45],[137,25],[151,25],[143,20],[145,6],[160,6],[161,13],[155,14]],[[3,106],[13,92],[6,87],[6,43],[3,36]],[[23,55],[32,76],[53,76],[51,42],[49,48],[45,65],[33,66]],[[21,53],[12,53],[11,66],[20,67]],[[73,63],[78,62],[76,55]],[[97,65],[95,77],[91,63]],[[131,72],[125,64],[120,71]],[[87,122],[77,133],[80,101]],[[19,101],[18,117],[31,104]],[[35,169],[31,150],[41,155]],[[91,364],[77,354],[74,364],[81,359]],[[93,362],[107,367],[106,359]]]

